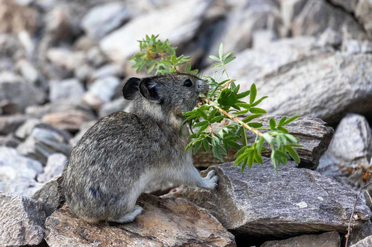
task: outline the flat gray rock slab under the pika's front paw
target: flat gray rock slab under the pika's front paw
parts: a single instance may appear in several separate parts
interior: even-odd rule
[[[321,231],[346,232],[356,198],[353,192],[333,178],[297,168],[294,161],[280,166],[279,174],[269,158],[263,157],[263,162],[243,174],[231,163],[209,167],[202,176],[215,169],[217,190],[181,186],[162,197],[181,197],[206,208],[240,237],[273,240]],[[360,199],[355,214],[361,221],[355,222],[354,230],[371,217]]]

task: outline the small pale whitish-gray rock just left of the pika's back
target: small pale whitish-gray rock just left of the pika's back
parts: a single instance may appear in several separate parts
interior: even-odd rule
[[[37,177],[38,182],[47,182],[62,173],[67,157],[64,154],[51,154],[48,156],[44,172]]]

